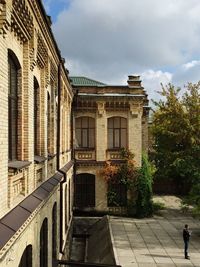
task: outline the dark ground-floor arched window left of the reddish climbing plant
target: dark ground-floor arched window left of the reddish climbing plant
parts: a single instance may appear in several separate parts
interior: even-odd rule
[[[95,175],[88,173],[76,175],[75,206],[95,207]]]

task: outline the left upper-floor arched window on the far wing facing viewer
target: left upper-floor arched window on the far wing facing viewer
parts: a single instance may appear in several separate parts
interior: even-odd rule
[[[80,117],[75,121],[76,140],[80,148],[95,147],[95,120],[90,117]]]

